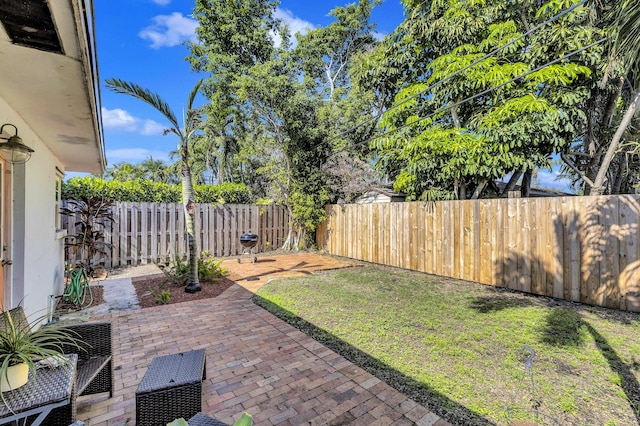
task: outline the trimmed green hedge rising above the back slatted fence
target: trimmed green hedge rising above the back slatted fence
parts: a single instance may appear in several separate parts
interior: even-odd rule
[[[196,203],[248,204],[251,202],[251,192],[244,184],[194,185],[193,191]],[[121,182],[86,176],[74,177],[63,182],[63,200],[77,200],[82,196],[99,196],[108,201],[182,202],[180,185],[167,185],[148,179]]]

